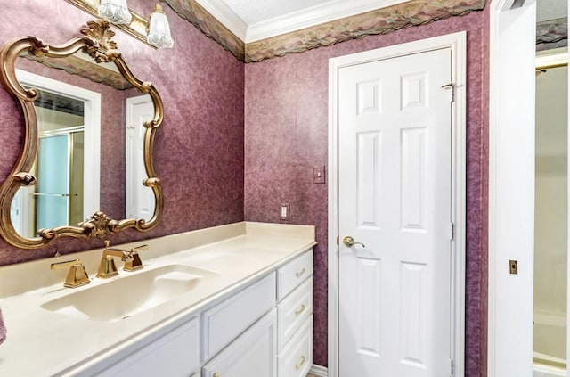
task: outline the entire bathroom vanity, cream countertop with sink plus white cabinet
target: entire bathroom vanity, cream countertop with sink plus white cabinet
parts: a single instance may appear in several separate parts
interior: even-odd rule
[[[314,226],[239,222],[145,243],[144,268],[110,279],[94,277],[102,250],[74,254],[92,276],[75,290],[49,272],[69,256],[2,266],[16,283],[0,284],[0,376],[306,377]]]

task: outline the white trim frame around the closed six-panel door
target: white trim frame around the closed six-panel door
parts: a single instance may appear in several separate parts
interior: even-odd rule
[[[442,48],[452,50],[452,358],[453,375],[464,374],[466,217],[466,49],[465,31],[383,47],[329,60],[329,293],[328,375],[338,377],[338,73],[343,67]]]

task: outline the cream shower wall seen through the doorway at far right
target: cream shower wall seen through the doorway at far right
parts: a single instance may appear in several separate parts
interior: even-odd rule
[[[566,316],[567,76],[559,67],[536,78],[535,322]],[[566,341],[535,331],[534,350],[565,358]]]

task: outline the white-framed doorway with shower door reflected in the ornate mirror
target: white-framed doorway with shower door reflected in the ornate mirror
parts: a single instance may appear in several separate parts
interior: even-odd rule
[[[30,170],[37,184],[20,187],[11,208],[14,229],[29,238],[40,229],[77,225],[100,208],[101,94],[25,70],[16,75],[38,91],[37,158]]]

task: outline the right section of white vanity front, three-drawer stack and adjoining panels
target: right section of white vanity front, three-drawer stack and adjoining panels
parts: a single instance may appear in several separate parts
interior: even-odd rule
[[[307,250],[204,312],[204,358],[229,345],[202,367],[202,377],[305,377],[313,365],[313,270],[313,250]],[[237,329],[265,312],[272,294],[274,308],[230,343]]]

